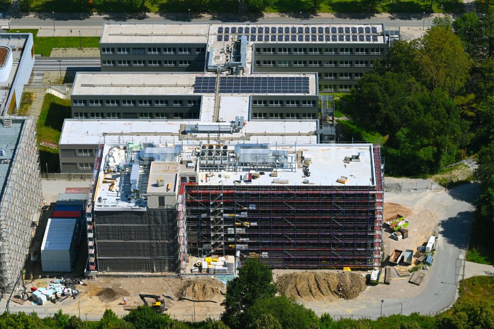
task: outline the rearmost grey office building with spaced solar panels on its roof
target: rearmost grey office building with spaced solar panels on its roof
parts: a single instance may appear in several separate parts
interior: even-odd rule
[[[103,71],[318,74],[348,91],[399,38],[383,24],[105,24]]]

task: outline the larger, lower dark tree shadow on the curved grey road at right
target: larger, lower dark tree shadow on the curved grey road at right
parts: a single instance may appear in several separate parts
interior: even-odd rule
[[[470,226],[473,223],[473,211],[461,211],[439,223],[440,239],[459,249],[467,247],[470,237]]]

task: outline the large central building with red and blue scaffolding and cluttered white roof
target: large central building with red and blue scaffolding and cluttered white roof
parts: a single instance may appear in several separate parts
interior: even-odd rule
[[[380,264],[379,145],[106,144],[97,159],[89,273],[183,272],[187,255]]]

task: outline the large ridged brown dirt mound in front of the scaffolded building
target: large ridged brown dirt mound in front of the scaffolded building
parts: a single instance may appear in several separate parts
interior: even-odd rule
[[[299,272],[280,275],[278,290],[287,297],[353,299],[366,289],[366,279],[356,273]]]

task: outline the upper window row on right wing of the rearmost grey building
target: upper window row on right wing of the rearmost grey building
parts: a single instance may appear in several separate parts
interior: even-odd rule
[[[382,48],[255,48],[257,55],[381,55]]]

